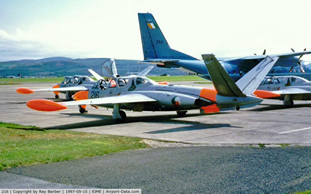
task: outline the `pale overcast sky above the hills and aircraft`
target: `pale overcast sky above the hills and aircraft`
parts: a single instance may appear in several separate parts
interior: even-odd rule
[[[143,59],[137,13],[171,48],[200,58],[311,50],[311,1],[0,0],[0,61]],[[295,4],[293,4],[295,3]],[[302,59],[311,60],[311,55]]]

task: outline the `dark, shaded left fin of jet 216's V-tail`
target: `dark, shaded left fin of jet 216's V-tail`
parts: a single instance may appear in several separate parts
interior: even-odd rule
[[[245,97],[246,95],[234,83],[229,74],[213,54],[202,54],[203,61],[213,81],[217,94],[229,97]]]

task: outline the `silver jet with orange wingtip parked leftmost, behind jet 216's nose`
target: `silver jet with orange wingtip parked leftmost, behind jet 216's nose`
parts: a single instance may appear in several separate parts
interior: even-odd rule
[[[66,76],[64,80],[53,86],[52,88],[44,88],[44,89],[28,89],[28,88],[17,88],[16,92],[21,94],[30,94],[33,92],[42,92],[42,91],[53,91],[55,94],[55,98],[59,98],[59,93],[66,94],[66,100],[72,100],[72,96],[81,90],[86,90],[91,88],[96,81],[87,76],[75,75],[73,77]]]

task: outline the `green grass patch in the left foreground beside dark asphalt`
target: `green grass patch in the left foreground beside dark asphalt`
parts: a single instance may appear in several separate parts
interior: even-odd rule
[[[0,137],[0,170],[149,147],[136,137],[44,130],[3,122]]]

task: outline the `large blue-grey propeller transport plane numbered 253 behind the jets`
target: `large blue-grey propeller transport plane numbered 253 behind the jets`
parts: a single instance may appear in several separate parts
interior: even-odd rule
[[[163,68],[178,68],[189,74],[211,79],[202,60],[170,48],[151,13],[138,13],[138,20],[144,54],[144,60],[139,62],[152,63]],[[292,53],[269,54],[270,57],[278,56],[280,58],[269,71],[268,76],[296,75],[311,80],[311,62],[300,59],[304,54],[310,54],[311,51],[292,51]],[[219,58],[219,61],[230,77],[237,81],[266,57],[264,51],[262,55]]]

